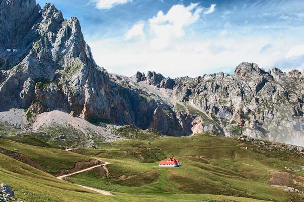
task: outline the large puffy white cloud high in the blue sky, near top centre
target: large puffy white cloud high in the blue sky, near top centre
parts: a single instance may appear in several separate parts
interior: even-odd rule
[[[155,49],[168,48],[173,41],[185,36],[184,27],[193,24],[200,18],[203,8],[191,3],[189,6],[174,5],[167,14],[159,11],[149,19],[150,30],[155,35],[151,46]]]

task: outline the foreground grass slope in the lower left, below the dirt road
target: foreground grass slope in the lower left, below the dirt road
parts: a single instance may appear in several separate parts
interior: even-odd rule
[[[216,195],[192,195],[192,194],[125,194],[117,193],[115,196],[104,196],[81,187],[54,178],[52,175],[32,168],[22,162],[0,154],[0,179],[9,184],[15,196],[24,202],[41,201],[224,201],[259,202],[247,198],[216,196]]]

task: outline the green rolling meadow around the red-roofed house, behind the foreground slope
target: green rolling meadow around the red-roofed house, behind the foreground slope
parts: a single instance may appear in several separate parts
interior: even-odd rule
[[[192,137],[159,137],[150,141],[122,140],[104,145],[103,149],[79,151],[107,158],[106,161],[114,164],[108,166],[110,176],[107,178],[90,171],[70,177],[71,182],[136,194],[219,194],[289,201],[293,196],[268,185],[271,172],[289,172],[285,167],[302,170],[304,165],[303,156],[291,151],[282,152],[207,133]],[[159,169],[157,163],[153,163],[170,156],[178,158],[183,166]],[[289,186],[304,190],[296,184]]]

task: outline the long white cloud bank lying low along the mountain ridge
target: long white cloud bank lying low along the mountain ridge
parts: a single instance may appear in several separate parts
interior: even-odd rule
[[[222,40],[188,36],[175,41],[171,48],[162,50],[151,47],[149,41],[129,43],[117,38],[88,41],[88,44],[93,55],[98,56],[94,57],[97,64],[111,73],[131,76],[136,71],[153,70],[175,78],[196,77],[220,71],[232,72],[243,61],[255,62],[264,68],[274,67],[273,62],[282,58],[282,54],[260,54],[260,49],[265,44],[273,43],[269,40],[258,36]],[[284,48],[284,41],[276,43],[274,47],[280,52]]]

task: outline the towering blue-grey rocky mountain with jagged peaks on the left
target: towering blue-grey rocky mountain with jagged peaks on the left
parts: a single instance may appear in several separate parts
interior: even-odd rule
[[[2,111],[62,110],[144,129],[157,123],[159,103],[112,82],[94,62],[78,19],[64,20],[52,4],[0,1],[0,83]]]

